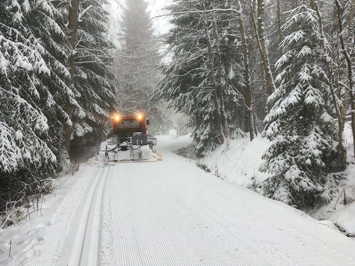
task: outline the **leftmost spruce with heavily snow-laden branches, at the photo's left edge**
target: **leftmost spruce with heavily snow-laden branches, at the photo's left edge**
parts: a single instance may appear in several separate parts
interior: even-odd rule
[[[55,174],[48,121],[41,111],[44,103],[55,104],[43,83],[51,70],[42,56],[45,49],[24,26],[34,6],[29,1],[0,2],[1,215],[24,195],[46,192],[45,180]]]

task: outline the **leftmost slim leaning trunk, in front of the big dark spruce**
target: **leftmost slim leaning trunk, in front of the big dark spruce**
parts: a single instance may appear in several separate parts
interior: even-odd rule
[[[202,2],[202,10],[206,10],[204,6],[204,1]],[[206,41],[207,41],[207,48],[208,48],[208,62],[209,62],[209,76],[211,78],[211,83],[212,83],[212,97],[213,97],[213,103],[214,103],[214,110],[215,110],[215,116],[217,118],[217,128],[218,128],[218,139],[221,144],[224,143],[225,136],[223,132],[223,126],[222,126],[222,119],[221,119],[221,114],[220,114],[220,108],[218,105],[218,100],[217,100],[217,88],[216,88],[216,81],[214,77],[214,66],[213,66],[213,55],[212,55],[212,45],[211,45],[211,39],[209,38],[209,33],[208,33],[208,26],[207,26],[207,18],[206,14],[203,14],[203,24],[204,24],[204,31],[206,35]]]

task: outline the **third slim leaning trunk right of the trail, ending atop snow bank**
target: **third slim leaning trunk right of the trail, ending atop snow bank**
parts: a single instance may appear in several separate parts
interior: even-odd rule
[[[245,37],[245,32],[244,32],[244,23],[242,20],[242,12],[241,12],[241,7],[239,5],[239,0],[235,0],[235,4],[237,6],[237,9],[240,11],[239,14],[239,30],[240,30],[240,35],[242,37],[242,44],[243,44],[243,57],[244,57],[244,79],[245,79],[245,96],[246,96],[246,122],[249,122],[249,135],[250,135],[250,141],[253,140],[255,133],[254,133],[254,127],[252,124],[252,107],[251,107],[251,89],[250,89],[250,76],[249,76],[249,58],[248,58],[248,52],[247,52],[247,44],[246,44],[246,37]],[[247,123],[248,124],[248,123]]]

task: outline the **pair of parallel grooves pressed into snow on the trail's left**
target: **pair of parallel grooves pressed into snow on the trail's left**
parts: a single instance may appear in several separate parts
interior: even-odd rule
[[[98,264],[100,211],[108,167],[100,168],[87,195],[76,232],[69,266]]]

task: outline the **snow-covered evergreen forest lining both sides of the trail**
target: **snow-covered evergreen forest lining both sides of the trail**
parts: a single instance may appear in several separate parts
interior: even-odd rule
[[[355,0],[150,5],[0,1],[0,216],[49,193],[112,115],[144,113],[158,135],[172,111],[200,158],[267,138],[265,196],[301,210],[332,200],[354,164],[343,131],[350,121],[355,140]]]

